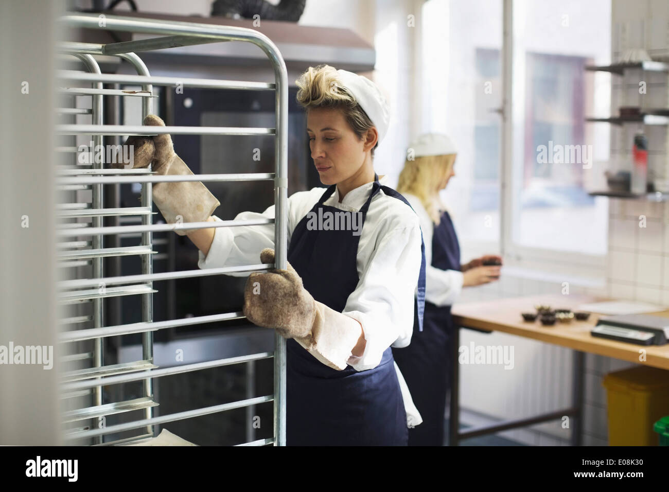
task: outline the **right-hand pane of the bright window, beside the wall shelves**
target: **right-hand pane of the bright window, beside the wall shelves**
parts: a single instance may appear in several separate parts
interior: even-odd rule
[[[510,97],[510,218],[504,247],[520,258],[603,265],[608,201],[587,184],[603,174],[609,131],[585,122],[606,114],[610,74],[585,66],[609,64],[611,1],[512,3]]]

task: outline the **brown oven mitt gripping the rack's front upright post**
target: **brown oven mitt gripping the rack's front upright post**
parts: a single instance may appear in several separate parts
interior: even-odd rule
[[[273,263],[274,250],[262,250],[260,262]],[[255,325],[276,329],[284,338],[294,338],[328,367],[346,369],[361,335],[360,323],[314,300],[302,278],[286,263],[285,270],[250,274],[244,290],[244,316]]]

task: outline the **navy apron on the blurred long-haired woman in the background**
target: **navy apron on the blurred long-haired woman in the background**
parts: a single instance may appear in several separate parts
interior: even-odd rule
[[[460,245],[444,211],[432,234],[432,266],[460,271]],[[443,446],[446,393],[450,389],[453,339],[451,307],[425,302],[423,331],[414,324],[411,344],[393,349],[399,370],[423,422],[409,429],[409,446]]]

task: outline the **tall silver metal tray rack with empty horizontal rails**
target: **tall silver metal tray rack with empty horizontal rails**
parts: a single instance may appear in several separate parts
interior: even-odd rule
[[[104,22],[102,19],[104,18]],[[92,203],[63,203],[58,206],[59,218],[91,217],[90,227],[84,224],[61,224],[56,229],[57,238],[80,238],[90,236],[90,249],[78,249],[88,246],[87,241],[67,240],[59,244],[60,248],[74,248],[62,251],[59,257],[62,266],[78,266],[79,260],[92,262],[92,278],[75,278],[58,282],[60,303],[72,304],[92,302],[93,315],[76,316],[60,320],[60,325],[82,326],[82,323],[92,322],[90,328],[70,329],[59,334],[60,343],[78,341],[93,341],[92,353],[74,353],[62,358],[62,361],[76,361],[92,358],[93,367],[84,370],[70,371],[62,379],[60,387],[62,398],[81,396],[92,391],[93,406],[70,410],[64,415],[65,422],[100,418],[105,415],[127,412],[130,410],[144,410],[145,418],[124,424],[116,424],[101,428],[75,428],[65,435],[68,441],[81,441],[92,438],[97,444],[122,444],[130,440],[139,440],[153,436],[153,425],[183,420],[195,416],[223,412],[232,408],[250,407],[262,402],[274,402],[274,437],[261,439],[244,445],[285,445],[286,426],[286,344],[285,340],[275,334],[274,352],[256,353],[242,357],[217,359],[202,363],[179,365],[176,367],[157,368],[153,364],[153,332],[171,327],[211,323],[229,319],[241,319],[241,312],[221,313],[218,315],[190,317],[169,321],[153,321],[153,282],[175,278],[187,278],[205,275],[225,274],[229,272],[252,272],[276,268],[286,268],[287,255],[287,153],[288,153],[288,76],[286,65],[272,41],[258,31],[241,27],[217,26],[210,24],[166,22],[152,19],[133,19],[129,17],[98,16],[94,14],[65,15],[60,21],[66,27],[80,27],[88,29],[109,29],[112,31],[130,31],[159,35],[149,39],[140,39],[130,42],[116,42],[111,44],[84,44],[63,42],[60,52],[75,56],[84,63],[88,72],[77,70],[60,70],[59,80],[76,81],[91,87],[70,87],[60,92],[72,95],[90,95],[91,109],[59,108],[58,112],[76,116],[77,114],[91,114],[91,125],[57,125],[58,135],[91,135],[94,145],[102,144],[104,135],[275,135],[275,172],[274,173],[240,173],[240,174],[207,174],[207,175],[165,175],[157,176],[151,169],[103,169],[104,163],[94,163],[92,169],[61,169],[57,173],[56,185],[59,189],[76,191],[90,189]],[[200,78],[172,78],[165,76],[151,76],[147,66],[136,52],[160,50],[177,46],[192,46],[227,41],[250,42],[263,50],[274,68],[275,82],[240,82],[235,80],[210,80]],[[95,55],[116,56],[128,62],[137,72],[137,75],[102,74]],[[153,86],[175,86],[177,82],[184,87],[247,89],[247,90],[274,90],[276,93],[276,129],[271,128],[229,128],[229,127],[144,127],[142,125],[103,125],[102,108],[103,98],[113,96],[138,96],[142,99],[142,117],[152,112]],[[142,91],[134,94],[121,90],[104,89],[103,83],[134,84],[142,86]],[[57,149],[61,152],[76,152],[76,147]],[[188,222],[183,224],[153,224],[151,183],[168,181],[274,181],[274,220],[226,220],[222,222]],[[135,208],[105,209],[102,200],[102,185],[115,183],[141,183],[141,206]],[[90,187],[90,188],[89,188]],[[141,225],[138,226],[103,226],[103,216],[139,215]],[[227,268],[212,268],[206,270],[187,270],[167,273],[153,273],[153,256],[151,251],[153,232],[183,229],[252,226],[272,224],[275,226],[275,264],[254,264]],[[111,234],[141,233],[141,242],[130,248],[104,248],[104,236]],[[102,258],[105,256],[120,256],[138,254],[141,256],[142,274],[130,276],[105,277]],[[69,260],[74,260],[67,264]],[[84,262],[84,264],[87,264]],[[102,299],[110,296],[140,295],[142,299],[142,321],[117,326],[104,326]],[[132,363],[103,365],[102,348],[105,337],[142,333],[142,360]],[[153,395],[153,378],[181,374],[211,367],[221,367],[235,363],[246,363],[274,357],[274,394],[248,398],[237,402],[230,402],[207,408],[196,408],[186,412],[154,417],[153,408],[157,406]],[[103,404],[103,386],[124,384],[127,382],[143,382],[144,396],[126,402]],[[146,432],[140,436],[126,438],[114,442],[102,443],[104,434],[124,432],[145,428]]]

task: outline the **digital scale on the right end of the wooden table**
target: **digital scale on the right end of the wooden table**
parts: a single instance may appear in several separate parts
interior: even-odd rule
[[[636,345],[664,345],[669,337],[669,318],[652,315],[602,316],[590,333],[593,337]]]

